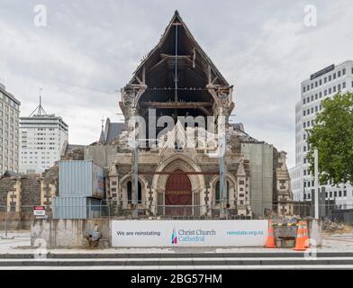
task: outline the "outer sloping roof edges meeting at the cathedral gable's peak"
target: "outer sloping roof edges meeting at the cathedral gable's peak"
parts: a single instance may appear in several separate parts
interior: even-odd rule
[[[192,35],[192,33],[187,28],[186,23],[183,22],[183,20],[181,19],[180,15],[177,13],[177,11],[173,15],[170,23],[167,25],[167,28],[164,31],[162,37],[160,38],[158,44],[141,61],[139,67],[136,68],[136,70],[133,73],[133,75],[136,75],[140,71],[141,67],[144,67],[144,65],[147,63],[147,61],[153,57],[153,54],[164,44],[164,42],[167,40],[167,35],[168,35],[169,31],[172,29],[174,23],[180,23],[181,26],[185,29],[186,36],[187,36],[187,38],[189,40],[191,40],[191,42],[193,44],[192,46],[194,46],[195,51],[197,50],[197,52],[200,53],[201,57],[204,58],[205,62],[212,67],[212,70],[213,70],[215,76],[218,76],[218,79],[220,80],[220,82],[222,82],[224,85],[229,85],[228,82],[225,80],[225,78],[222,76],[221,72],[217,69],[217,67],[214,66],[211,58],[208,57],[208,55],[204,52],[204,50],[197,43],[197,41],[195,40],[194,36]],[[193,62],[195,63],[195,56],[193,57]],[[133,82],[133,80],[134,80],[134,77],[131,79],[131,82]]]

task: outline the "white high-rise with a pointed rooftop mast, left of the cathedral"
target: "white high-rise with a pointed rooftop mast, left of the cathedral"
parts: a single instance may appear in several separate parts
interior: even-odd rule
[[[47,114],[41,106],[29,117],[20,118],[20,172],[42,173],[60,158],[68,140],[68,124],[55,114]]]

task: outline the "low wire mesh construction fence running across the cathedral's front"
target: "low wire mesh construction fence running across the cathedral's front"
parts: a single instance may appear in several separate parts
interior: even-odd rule
[[[211,208],[209,205],[162,205],[154,202],[138,202],[132,204],[131,200],[115,202],[102,200],[99,204],[66,205],[45,207],[45,216],[34,216],[32,205],[24,206],[0,206],[0,235],[14,232],[29,231],[33,220],[36,219],[105,219],[105,220],[250,220],[282,218],[303,219],[314,215],[310,202],[294,202],[291,215],[278,213],[276,210],[268,210],[264,205],[261,215],[240,215],[235,209],[220,207]],[[321,219],[353,225],[353,207],[340,209],[339,206],[321,205]],[[153,213],[152,211],[157,211]],[[223,217],[221,218],[221,215]],[[284,217],[285,216],[285,217]]]

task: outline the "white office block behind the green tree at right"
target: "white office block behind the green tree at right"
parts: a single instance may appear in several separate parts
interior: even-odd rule
[[[313,73],[301,84],[301,99],[295,105],[295,166],[290,169],[294,201],[312,201],[313,176],[309,171],[306,153],[309,150],[307,129],[314,124],[316,114],[321,111],[321,101],[338,92],[353,91],[353,61],[330,65]],[[330,184],[324,187],[326,200],[334,201],[338,208],[353,208],[353,187],[350,184]]]

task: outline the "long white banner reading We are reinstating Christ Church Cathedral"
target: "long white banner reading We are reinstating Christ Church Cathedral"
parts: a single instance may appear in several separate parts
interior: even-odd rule
[[[113,247],[265,246],[267,220],[112,220]]]

